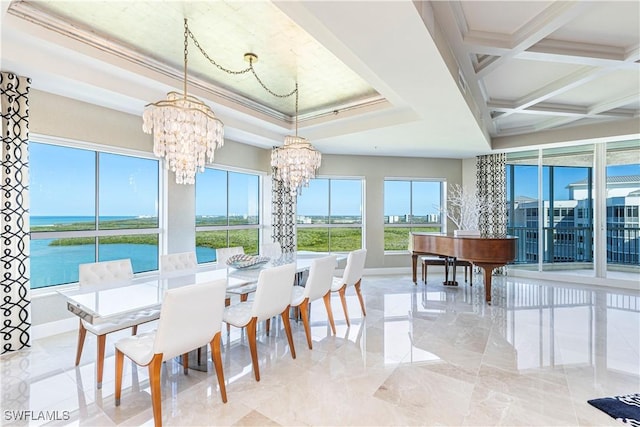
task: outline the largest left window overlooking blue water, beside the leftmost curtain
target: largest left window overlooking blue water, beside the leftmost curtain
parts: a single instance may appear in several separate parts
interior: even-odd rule
[[[29,144],[31,287],[78,281],[78,265],[130,258],[158,269],[158,161]]]

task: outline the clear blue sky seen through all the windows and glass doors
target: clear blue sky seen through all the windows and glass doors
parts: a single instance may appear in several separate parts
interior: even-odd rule
[[[95,212],[95,152],[32,142],[29,148],[30,212],[33,216],[92,216]],[[100,153],[100,215],[157,216],[160,162]],[[640,175],[640,164],[610,166],[609,175]],[[556,200],[567,199],[566,186],[587,177],[586,168],[556,167]],[[537,198],[537,167],[519,167],[516,196]],[[196,215],[226,215],[226,188],[229,213],[258,215],[258,177],[251,174],[206,169],[198,173],[195,186]],[[544,176],[547,182],[548,176]],[[329,189],[331,182],[331,189]],[[104,185],[108,183],[108,185]],[[298,196],[299,215],[362,215],[363,184],[359,179],[315,179]],[[414,182],[410,197],[408,181],[387,181],[384,188],[384,215],[438,213],[438,182]],[[221,190],[221,191],[218,191]],[[331,190],[331,191],[330,191]],[[331,194],[331,200],[329,200]],[[548,189],[543,196],[548,198]]]

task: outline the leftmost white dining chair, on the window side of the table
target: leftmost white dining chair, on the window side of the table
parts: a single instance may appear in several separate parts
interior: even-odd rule
[[[114,261],[101,261],[88,264],[80,264],[79,280],[80,286],[126,283],[133,279],[133,268],[130,259]],[[138,325],[158,319],[159,310],[143,310],[137,313],[127,314],[122,317],[110,319],[108,322],[97,323],[95,325],[80,319],[78,328],[78,348],[76,350],[76,366],[80,364],[82,349],[87,332],[96,336],[96,382],[97,387],[102,388],[102,374],[104,372],[104,353],[107,334],[120,331],[126,328],[133,328],[132,334],[138,332]]]

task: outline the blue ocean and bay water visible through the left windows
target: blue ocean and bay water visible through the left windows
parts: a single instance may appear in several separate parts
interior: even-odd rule
[[[101,220],[130,219],[131,216],[101,217]],[[51,225],[73,222],[93,221],[88,216],[40,216],[31,217],[32,225]],[[96,260],[95,245],[50,246],[54,239],[31,240],[31,288],[73,283],[78,281],[78,265],[115,259],[130,258],[134,273],[158,269],[158,247],[142,244],[106,244],[100,245],[99,259]],[[198,261],[215,260],[215,249],[196,248]]]

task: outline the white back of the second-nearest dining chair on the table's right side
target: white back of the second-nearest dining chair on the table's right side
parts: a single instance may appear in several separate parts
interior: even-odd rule
[[[258,276],[251,315],[258,321],[281,314],[291,303],[295,264],[266,268]]]

